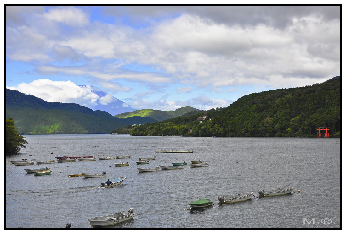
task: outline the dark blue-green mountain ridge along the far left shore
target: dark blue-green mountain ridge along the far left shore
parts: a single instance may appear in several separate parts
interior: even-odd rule
[[[96,134],[129,124],[155,122],[153,118],[119,119],[106,111],[95,110],[75,103],[51,103],[6,89],[6,114],[15,121],[20,134]]]

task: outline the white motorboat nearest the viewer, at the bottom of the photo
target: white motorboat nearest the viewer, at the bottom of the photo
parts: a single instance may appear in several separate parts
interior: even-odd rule
[[[115,225],[124,221],[133,219],[135,216],[134,209],[130,208],[129,212],[124,212],[120,209],[120,213],[111,215],[89,218],[88,221],[91,227],[103,227],[109,225]]]

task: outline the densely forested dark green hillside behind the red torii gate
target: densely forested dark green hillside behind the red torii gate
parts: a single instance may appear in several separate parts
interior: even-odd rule
[[[316,126],[321,126],[330,127],[331,137],[340,137],[340,106],[338,76],[322,84],[243,96],[227,108],[207,111],[211,120],[202,123],[196,119],[203,112],[138,126],[130,135],[316,137]]]

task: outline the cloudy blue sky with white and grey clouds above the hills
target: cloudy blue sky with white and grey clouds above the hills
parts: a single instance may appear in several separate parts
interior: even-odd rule
[[[340,6],[6,6],[6,87],[208,110],[340,74]]]

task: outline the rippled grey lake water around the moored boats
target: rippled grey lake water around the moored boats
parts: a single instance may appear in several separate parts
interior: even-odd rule
[[[108,228],[340,228],[340,138],[145,137],[129,135],[25,135],[20,154],[5,158],[5,228],[91,228],[88,218],[128,211],[133,220]],[[159,149],[191,154],[155,153]],[[53,153],[53,154],[51,154]],[[29,157],[29,155],[34,155]],[[125,156],[91,162],[15,166],[10,160],[56,156]],[[156,156],[137,165],[138,157]],[[208,167],[139,173],[136,168],[202,160]],[[129,162],[115,167],[114,163]],[[51,175],[24,169],[50,167]],[[103,173],[105,178],[71,177]],[[21,174],[22,173],[22,174]],[[111,188],[107,179],[125,176]],[[257,190],[294,186],[282,196]],[[297,190],[300,189],[300,193]],[[220,204],[218,196],[254,192],[244,202]],[[213,206],[189,209],[209,198]]]

